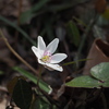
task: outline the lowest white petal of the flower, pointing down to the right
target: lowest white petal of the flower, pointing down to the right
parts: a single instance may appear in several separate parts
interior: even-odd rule
[[[47,68],[50,71],[53,71],[53,70],[57,70],[57,71],[60,71],[60,72],[63,71],[62,66],[60,66],[59,64],[46,63],[45,68]]]

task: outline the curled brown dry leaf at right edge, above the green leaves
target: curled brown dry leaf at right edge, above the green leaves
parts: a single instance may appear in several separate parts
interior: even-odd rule
[[[83,74],[89,74],[89,70],[100,62],[109,62],[109,44],[101,39],[95,39],[87,59],[92,60],[86,62]]]

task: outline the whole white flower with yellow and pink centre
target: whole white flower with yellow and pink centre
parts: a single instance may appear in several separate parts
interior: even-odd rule
[[[41,36],[38,36],[38,47],[33,46],[32,50],[34,51],[37,60],[48,70],[57,70],[62,72],[63,69],[58,63],[66,58],[65,53],[56,53],[52,55],[59,44],[59,39],[55,38],[47,47]]]

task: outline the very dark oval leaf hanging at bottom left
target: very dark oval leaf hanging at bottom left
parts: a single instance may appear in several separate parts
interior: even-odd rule
[[[33,92],[29,84],[26,81],[19,78],[12,95],[16,106],[21,109],[29,109],[32,97]]]

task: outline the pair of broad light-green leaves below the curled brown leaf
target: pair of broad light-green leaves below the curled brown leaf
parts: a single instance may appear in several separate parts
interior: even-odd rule
[[[92,76],[75,77],[65,85],[71,87],[109,87],[109,62],[102,62],[90,69]]]

